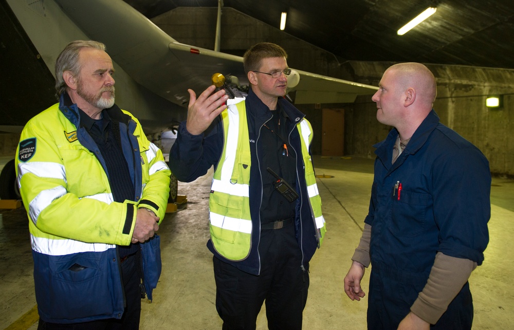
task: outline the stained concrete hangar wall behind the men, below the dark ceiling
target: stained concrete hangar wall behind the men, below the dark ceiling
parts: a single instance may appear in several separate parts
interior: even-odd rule
[[[152,21],[177,41],[214,48],[217,8],[180,7]],[[232,8],[223,8],[221,51],[243,56],[261,41],[281,45],[291,67],[320,75],[377,86],[383,71],[394,63],[346,61],[301,41],[277,27],[269,26]],[[437,80],[434,109],[441,122],[473,144],[489,159],[491,172],[514,175],[514,70],[426,64]],[[488,95],[503,95],[503,107],[485,106]],[[355,103],[305,104],[303,111],[315,130],[313,153],[321,154],[323,108],[344,109],[344,154],[374,157],[373,144],[386,137],[392,127],[376,120],[371,95]]]

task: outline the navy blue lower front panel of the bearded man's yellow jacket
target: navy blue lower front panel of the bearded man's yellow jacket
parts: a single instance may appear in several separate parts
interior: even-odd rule
[[[114,256],[114,253],[111,253]],[[114,317],[123,310],[121,278],[116,259],[105,252],[83,252],[47,259],[48,273],[36,268],[36,298],[42,317],[48,322],[92,320]],[[45,262],[46,263],[46,262]],[[37,273],[38,270],[41,270]],[[46,280],[44,280],[46,278]],[[38,295],[39,292],[39,295]],[[43,304],[42,304],[43,302]],[[119,306],[121,303],[121,306]]]

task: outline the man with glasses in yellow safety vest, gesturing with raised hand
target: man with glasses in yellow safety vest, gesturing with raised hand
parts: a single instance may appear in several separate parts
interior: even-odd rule
[[[250,91],[229,102],[210,86],[191,95],[170,168],[193,181],[214,166],[209,198],[216,309],[223,329],[301,329],[309,261],[325,236],[310,156],[313,129],[286,94],[287,54],[259,43],[243,57]],[[211,95],[212,94],[212,95]]]

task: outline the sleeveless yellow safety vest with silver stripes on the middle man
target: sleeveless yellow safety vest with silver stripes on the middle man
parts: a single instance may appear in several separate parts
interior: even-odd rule
[[[222,113],[222,118],[224,148],[214,172],[209,198],[211,241],[224,258],[240,261],[250,253],[252,232],[249,202],[251,155],[245,101],[230,105]],[[308,152],[312,128],[305,119],[296,127],[301,136],[305,180],[319,246],[325,234],[325,221]]]

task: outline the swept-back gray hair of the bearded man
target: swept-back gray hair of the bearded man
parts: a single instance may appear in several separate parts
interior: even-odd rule
[[[79,77],[79,52],[82,48],[95,48],[105,51],[105,45],[93,40],[75,40],[70,42],[59,54],[56,61],[56,91],[57,99],[66,91],[67,85],[63,79],[64,71],[70,71],[74,77]]]

